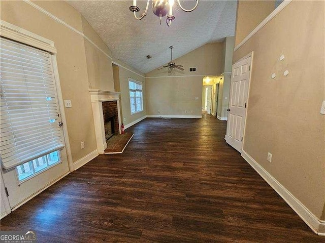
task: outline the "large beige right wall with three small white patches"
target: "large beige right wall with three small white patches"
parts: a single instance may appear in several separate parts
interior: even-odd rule
[[[323,1],[293,1],[234,53],[235,62],[254,51],[243,149],[318,218],[325,201],[324,16]]]

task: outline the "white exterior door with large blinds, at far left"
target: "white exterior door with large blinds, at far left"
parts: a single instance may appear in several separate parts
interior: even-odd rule
[[[23,150],[22,148],[24,147],[26,149],[27,147],[30,148],[28,152],[32,154],[32,151],[35,151],[36,147],[45,149],[50,146],[51,140],[56,140],[57,137],[63,138],[63,129],[62,124],[59,124],[61,123],[61,114],[53,69],[55,68],[55,65],[53,65],[55,57],[48,52],[4,39],[1,39],[0,47],[2,51],[0,60],[1,101],[2,108],[6,107],[6,109],[1,110],[1,122],[2,125],[3,123],[5,124],[6,128],[6,131],[2,132],[9,133],[7,131],[12,131],[15,136],[24,134],[21,135],[24,136],[23,139],[19,137],[20,140],[15,140],[14,143],[11,141],[16,139],[16,137],[2,135],[6,136],[6,139],[1,141],[1,146],[4,146],[2,147],[4,149],[1,151],[2,163],[4,165],[4,158],[7,156],[5,150],[8,150],[6,146],[17,147],[16,150],[9,151],[11,153],[10,156],[20,156],[17,153],[19,150]],[[43,81],[45,79],[46,81]],[[26,86],[24,86],[25,84]],[[28,94],[26,90],[28,90]],[[34,113],[31,113],[30,110]],[[48,110],[48,112],[44,112],[44,110]],[[30,118],[32,117],[31,114],[37,117],[37,119],[32,120]],[[19,115],[19,118],[15,117],[15,115]],[[8,118],[6,117],[8,116],[12,121],[10,126],[7,123]],[[17,125],[18,123],[19,126]],[[53,127],[53,131],[55,130],[55,133],[52,133],[52,137],[48,136],[46,132],[44,132],[45,135],[42,135],[42,137],[37,137],[38,132],[30,135],[30,127],[35,128],[36,131],[46,131],[48,126],[46,125],[46,129],[42,128],[44,123],[53,124],[51,126]],[[30,127],[27,126],[28,124],[31,124]],[[21,126],[25,126],[26,129],[21,129]],[[28,131],[28,135],[25,135],[27,133],[26,131]],[[43,140],[37,140],[36,138],[42,138]],[[27,142],[30,142],[31,145],[27,146]],[[5,190],[5,195],[7,194],[8,196],[12,210],[25,203],[32,195],[38,193],[52,182],[69,173],[67,151],[64,145],[63,147],[54,147],[52,150],[50,148],[44,151],[48,152],[37,153],[39,155],[35,154],[35,157],[31,155],[31,160],[26,161],[22,165],[8,167],[7,170],[4,169],[6,167],[3,167],[1,170],[5,185],[5,187],[1,187],[2,195],[4,194],[3,190]]]

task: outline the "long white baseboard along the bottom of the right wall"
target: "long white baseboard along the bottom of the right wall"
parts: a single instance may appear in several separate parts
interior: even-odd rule
[[[325,236],[325,221],[318,219],[311,213],[293,194],[291,194],[280,182],[278,182],[269,172],[259,165],[246,151],[242,150],[242,157],[247,163],[269,183],[269,185],[286,201],[302,220],[316,234]]]

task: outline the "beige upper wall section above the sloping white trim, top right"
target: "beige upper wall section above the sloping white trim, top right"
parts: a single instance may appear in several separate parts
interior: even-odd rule
[[[239,0],[237,4],[237,18],[235,28],[235,46],[243,39],[272,11],[274,1],[246,1]]]

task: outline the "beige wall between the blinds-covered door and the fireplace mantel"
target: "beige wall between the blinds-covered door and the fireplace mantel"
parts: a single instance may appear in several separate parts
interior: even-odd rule
[[[98,35],[73,7],[60,1],[34,2],[79,31],[110,54]],[[96,149],[89,86],[114,90],[111,61],[94,49],[81,35],[22,1],[2,1],[1,19],[51,39],[57,48],[57,65],[63,99],[72,101],[65,108],[73,161]],[[110,65],[109,65],[110,64]],[[107,69],[107,70],[106,70]],[[81,149],[80,142],[85,148]]]

